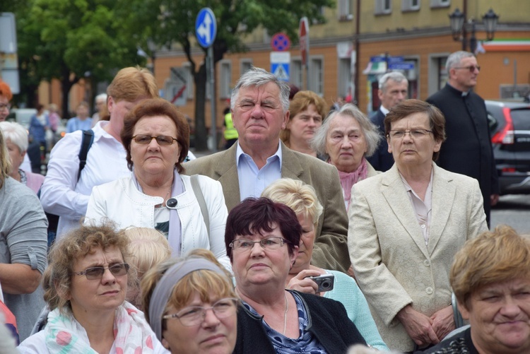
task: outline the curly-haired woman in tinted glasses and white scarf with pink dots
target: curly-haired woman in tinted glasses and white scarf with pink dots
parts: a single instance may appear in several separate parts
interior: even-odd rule
[[[135,277],[128,243],[107,225],[81,226],[54,243],[43,281],[47,323],[20,353],[166,352],[143,313],[125,302]]]

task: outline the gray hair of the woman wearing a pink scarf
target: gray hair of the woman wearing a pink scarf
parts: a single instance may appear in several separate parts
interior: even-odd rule
[[[346,105],[343,105],[338,111],[334,110],[329,112],[326,119],[324,119],[322,126],[320,126],[311,139],[311,147],[313,150],[316,151],[317,154],[324,156],[326,159],[329,158],[329,155],[326,153],[326,141],[331,122],[333,122],[338,115],[351,117],[359,123],[360,130],[363,131],[363,135],[365,136],[366,156],[373,155],[379,145],[379,141],[382,139],[382,135],[379,133],[377,126],[370,122],[370,119],[366,117],[363,112],[360,112],[358,107],[352,103],[346,103]]]

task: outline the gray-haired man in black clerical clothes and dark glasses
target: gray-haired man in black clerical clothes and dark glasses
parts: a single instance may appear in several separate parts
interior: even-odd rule
[[[445,67],[447,84],[427,99],[445,116],[447,140],[442,144],[437,165],[478,180],[489,226],[491,206],[499,200],[499,179],[488,112],[484,100],[473,92],[481,67],[472,53],[464,51],[449,55]]]

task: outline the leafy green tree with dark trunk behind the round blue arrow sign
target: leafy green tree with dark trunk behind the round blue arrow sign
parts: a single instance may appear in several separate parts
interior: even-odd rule
[[[143,1],[143,0],[139,0]],[[204,107],[206,104],[206,49],[204,59],[197,62],[192,57],[196,45],[195,19],[201,8],[209,7],[215,13],[218,30],[213,42],[213,60],[217,63],[227,52],[244,52],[245,35],[257,28],[269,33],[284,32],[290,38],[297,38],[298,23],[302,16],[311,20],[324,21],[321,8],[334,7],[334,0],[149,0],[158,6],[160,12],[151,13],[143,20],[153,24],[153,40],[159,45],[170,47],[178,43],[191,64],[195,83],[195,146],[206,150],[206,125]]]

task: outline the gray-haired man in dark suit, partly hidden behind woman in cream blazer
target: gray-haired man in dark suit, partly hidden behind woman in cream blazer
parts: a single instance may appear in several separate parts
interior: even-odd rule
[[[377,91],[381,106],[379,110],[372,114],[370,120],[377,125],[379,132],[384,136],[384,117],[387,113],[402,100],[406,100],[408,95],[408,80],[404,74],[399,71],[385,73],[379,78],[379,90]],[[388,143],[386,139],[377,146],[377,151],[367,158],[368,162],[377,171],[388,171],[394,165],[394,158],[388,152]]]

